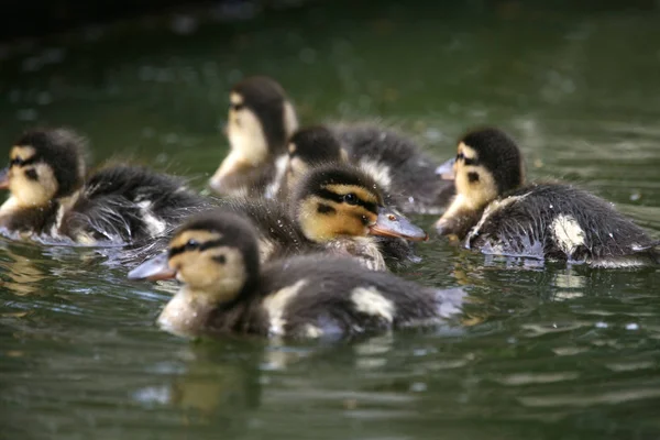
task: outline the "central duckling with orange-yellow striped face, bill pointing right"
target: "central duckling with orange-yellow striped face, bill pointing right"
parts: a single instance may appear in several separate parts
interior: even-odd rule
[[[359,168],[330,164],[312,168],[287,207],[271,199],[228,199],[226,210],[250,218],[263,261],[326,250],[354,256],[384,271],[414,260],[409,241],[428,235],[394,208],[384,206],[376,183]]]

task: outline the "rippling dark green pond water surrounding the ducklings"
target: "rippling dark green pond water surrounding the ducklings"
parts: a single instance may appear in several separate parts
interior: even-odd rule
[[[0,139],[67,124],[97,162],[202,188],[227,148],[230,85],[264,73],[304,123],[381,120],[440,158],[466,128],[501,125],[530,178],[579,183],[659,237],[660,11],[592,9],[248,6],[22,41],[0,46]],[[129,283],[94,250],[0,248],[3,438],[660,435],[654,268],[539,265],[433,240],[402,275],[465,286],[460,326],[339,345],[189,343],[153,323],[172,286]]]

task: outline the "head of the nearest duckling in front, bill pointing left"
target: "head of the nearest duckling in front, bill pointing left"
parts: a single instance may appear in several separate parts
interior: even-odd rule
[[[129,273],[129,279],[176,278],[207,304],[231,302],[256,282],[258,248],[250,222],[213,210],[179,228],[166,253]]]

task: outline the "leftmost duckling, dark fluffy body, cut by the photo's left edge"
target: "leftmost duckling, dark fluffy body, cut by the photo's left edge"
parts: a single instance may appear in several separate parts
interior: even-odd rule
[[[183,180],[146,168],[113,166],[86,175],[86,141],[67,129],[34,129],[10,151],[0,188],[0,227],[19,235],[125,244],[172,232],[208,207]]]

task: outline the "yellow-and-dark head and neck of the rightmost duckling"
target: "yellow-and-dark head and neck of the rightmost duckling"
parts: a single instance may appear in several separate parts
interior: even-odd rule
[[[503,194],[524,182],[522,160],[516,142],[498,129],[472,131],[459,141],[455,158],[438,170],[453,178],[457,197],[436,223],[440,233],[454,233],[454,218],[477,213]]]

